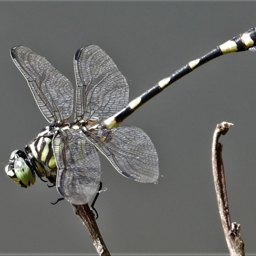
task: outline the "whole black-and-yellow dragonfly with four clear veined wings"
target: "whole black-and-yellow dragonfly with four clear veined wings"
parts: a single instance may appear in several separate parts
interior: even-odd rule
[[[11,49],[15,65],[26,78],[36,103],[49,124],[26,147],[15,150],[5,167],[20,187],[46,177],[71,204],[86,204],[100,186],[98,151],[125,177],[156,183],[156,148],[136,126],[119,126],[145,102],[194,69],[230,52],[256,51],[256,28],[235,36],[129,102],[129,87],[114,61],[99,46],[79,49],[74,58],[74,87],[44,57],[25,46]],[[45,181],[45,180],[44,180]]]

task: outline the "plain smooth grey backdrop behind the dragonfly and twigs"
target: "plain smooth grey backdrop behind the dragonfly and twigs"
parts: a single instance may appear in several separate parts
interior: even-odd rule
[[[0,2],[0,251],[94,253],[68,202],[37,179],[23,189],[4,173],[11,152],[47,121],[9,51],[25,45],[75,85],[73,56],[96,44],[115,61],[130,99],[190,60],[255,27],[255,2]],[[110,252],[228,252],[212,180],[216,124],[221,137],[231,220],[241,224],[245,251],[256,252],[256,54],[232,53],[203,65],[130,116],[159,156],[158,184],[129,180],[104,158],[96,208]]]

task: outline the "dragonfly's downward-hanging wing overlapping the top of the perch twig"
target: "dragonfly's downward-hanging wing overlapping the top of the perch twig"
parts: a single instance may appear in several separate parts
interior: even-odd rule
[[[56,186],[71,204],[86,204],[97,193],[100,158],[81,130],[58,132],[53,139],[58,167]]]

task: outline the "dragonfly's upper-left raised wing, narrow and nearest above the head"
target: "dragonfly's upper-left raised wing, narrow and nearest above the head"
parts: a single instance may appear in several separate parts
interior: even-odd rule
[[[28,47],[13,47],[11,56],[27,79],[45,118],[49,122],[67,120],[73,113],[74,104],[74,88],[68,78]]]

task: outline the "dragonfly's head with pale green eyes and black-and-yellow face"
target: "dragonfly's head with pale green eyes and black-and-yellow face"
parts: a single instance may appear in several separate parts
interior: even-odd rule
[[[27,188],[36,181],[36,175],[28,161],[28,157],[21,150],[12,152],[8,165],[5,166],[5,172],[8,177],[22,188]]]

